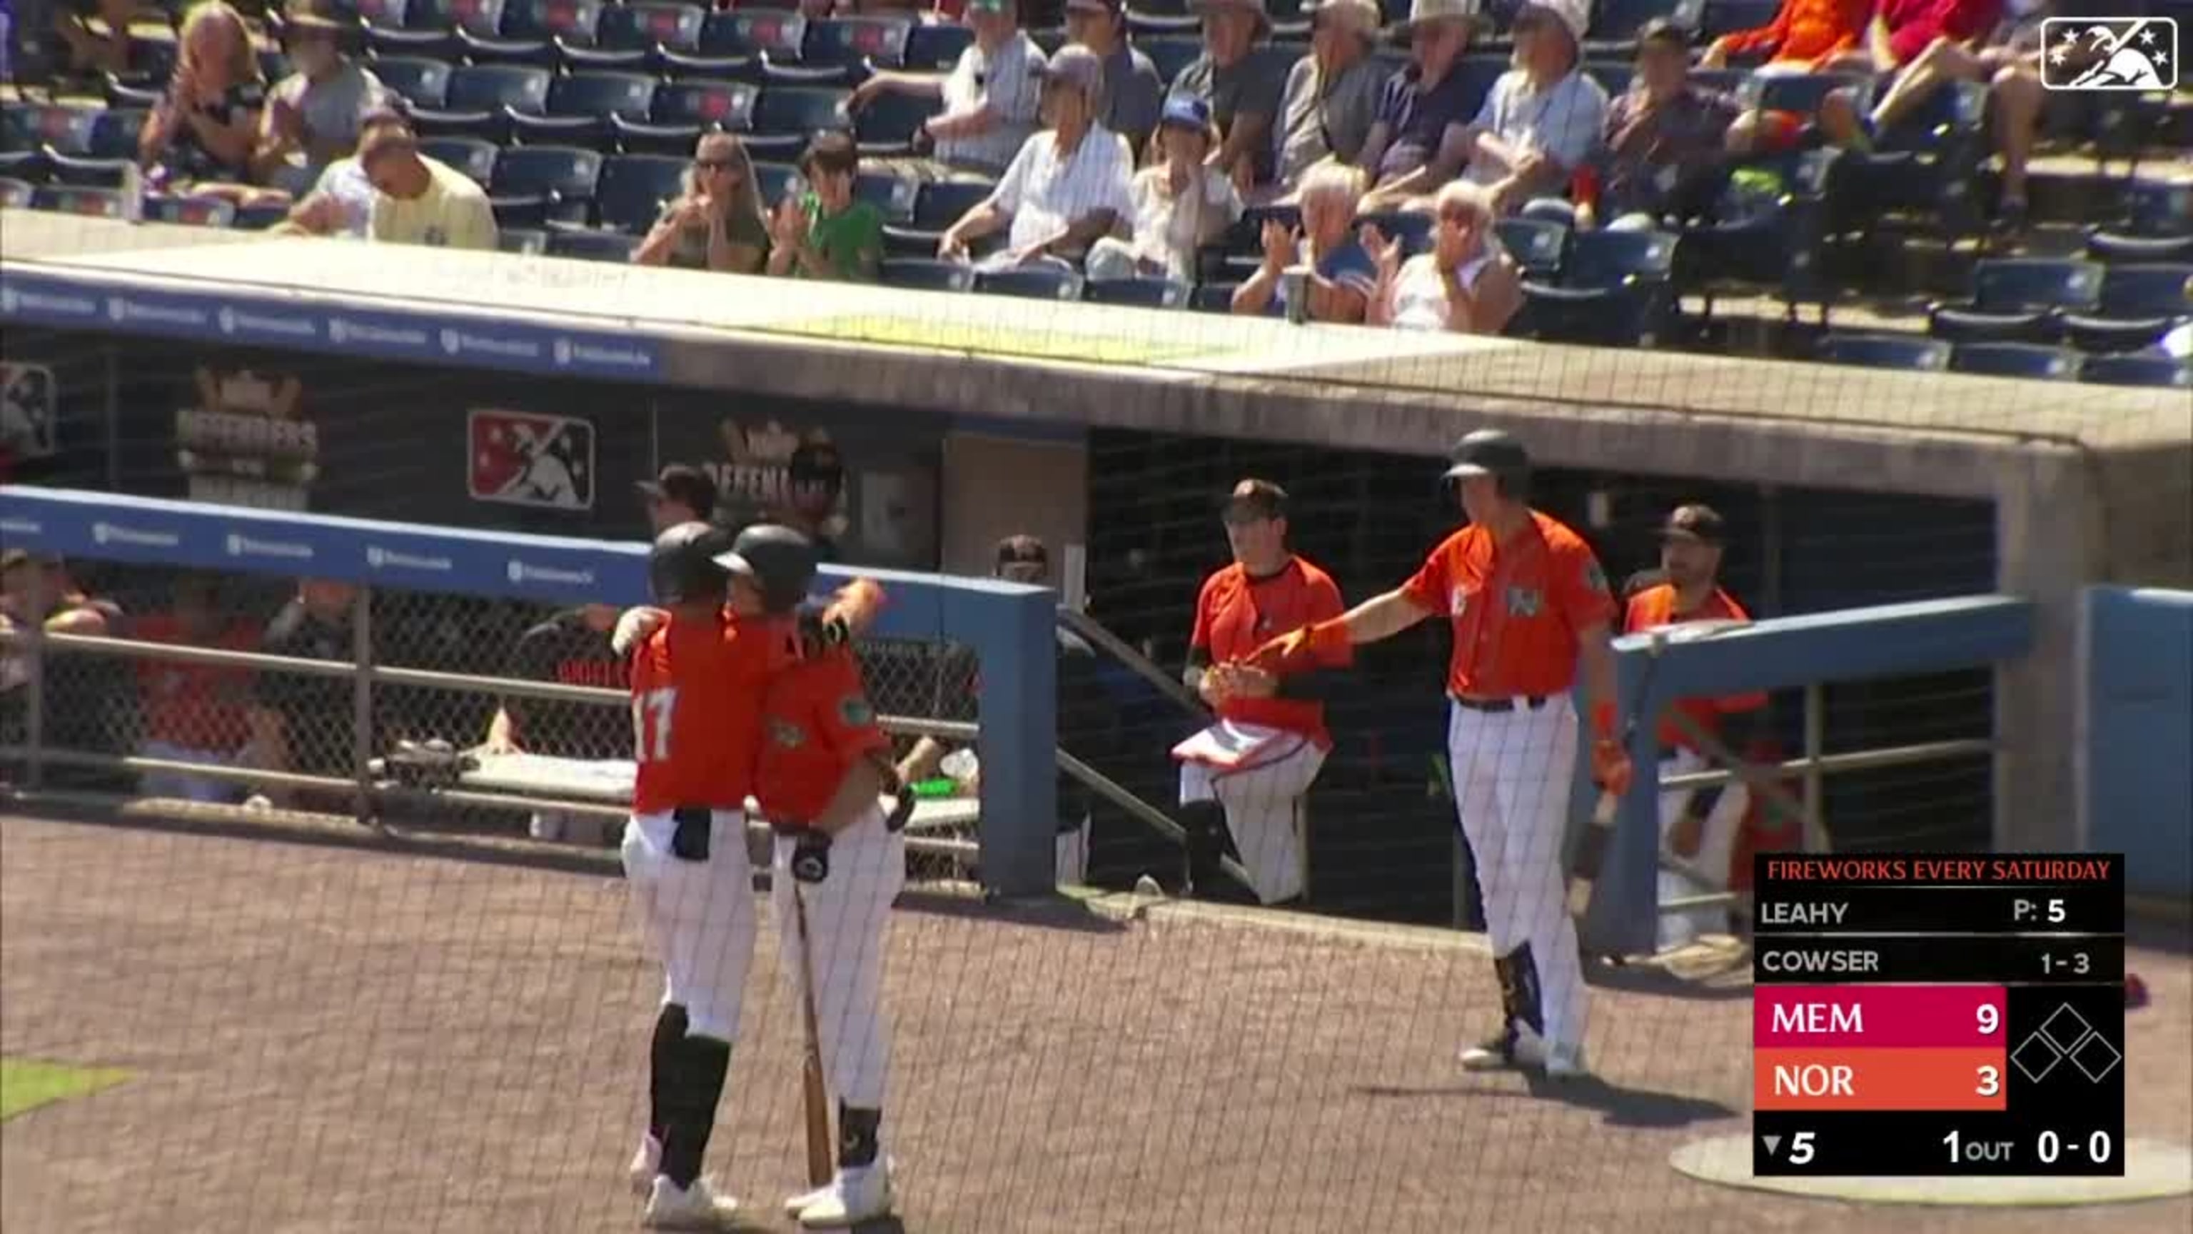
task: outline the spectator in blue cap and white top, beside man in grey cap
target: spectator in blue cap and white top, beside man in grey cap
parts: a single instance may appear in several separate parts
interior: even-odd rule
[[[1241,195],[1211,162],[1217,149],[1211,103],[1195,94],[1164,101],[1158,123],[1162,160],[1134,176],[1134,237],[1107,235],[1090,248],[1090,279],[1195,281],[1195,250],[1241,217]]]

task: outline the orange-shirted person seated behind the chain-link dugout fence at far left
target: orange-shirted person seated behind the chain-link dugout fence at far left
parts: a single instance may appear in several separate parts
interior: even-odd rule
[[[213,575],[184,575],[175,582],[175,602],[167,613],[147,613],[134,637],[147,643],[186,648],[219,648],[248,652],[259,646],[259,630],[221,608],[221,584]],[[252,694],[248,668],[224,668],[184,661],[136,661],[138,709],[143,716],[145,758],[171,762],[206,762],[235,766],[237,751],[250,738],[246,705]],[[178,771],[147,771],[138,779],[147,797],[180,797],[184,801],[235,801],[241,784]]]

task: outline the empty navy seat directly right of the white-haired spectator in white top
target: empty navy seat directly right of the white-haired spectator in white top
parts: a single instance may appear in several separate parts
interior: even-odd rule
[[[1524,279],[1520,338],[1651,347],[1675,310],[1678,237],[1664,231],[1579,231],[1553,281]]]

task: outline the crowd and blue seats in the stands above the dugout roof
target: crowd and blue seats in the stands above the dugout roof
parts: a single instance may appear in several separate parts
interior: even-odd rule
[[[2193,99],[2048,0],[15,2],[9,204],[1597,345],[1910,237],[1969,303],[1825,358],[2193,380],[2193,184],[2031,189]]]

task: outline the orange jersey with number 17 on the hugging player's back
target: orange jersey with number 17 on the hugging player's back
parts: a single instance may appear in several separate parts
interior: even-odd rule
[[[785,628],[671,617],[632,654],[638,777],[632,812],[743,810],[761,751],[761,698],[785,663]]]

